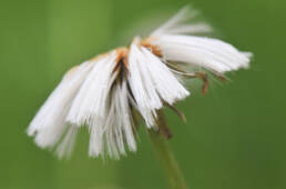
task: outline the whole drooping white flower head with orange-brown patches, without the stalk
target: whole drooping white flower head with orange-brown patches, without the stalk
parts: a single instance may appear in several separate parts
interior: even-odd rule
[[[89,155],[119,158],[126,148],[136,150],[135,116],[147,129],[156,128],[163,107],[185,99],[190,91],[182,77],[200,78],[207,89],[205,69],[223,78],[224,72],[247,68],[251,53],[217,39],[188,36],[210,31],[205,23],[187,24],[183,9],[150,37],[135,37],[127,48],[118,48],[72,68],[41,107],[28,135],[41,148],[57,147],[60,157],[72,150],[76,131],[88,127]],[[191,69],[192,70],[192,69]]]

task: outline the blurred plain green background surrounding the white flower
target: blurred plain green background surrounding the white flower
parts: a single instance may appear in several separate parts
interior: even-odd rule
[[[145,18],[187,3],[219,38],[255,54],[251,70],[178,105],[187,123],[167,111],[190,188],[285,189],[285,0],[1,0],[0,188],[165,189],[144,129],[137,152],[120,161],[89,159],[84,132],[71,159],[60,161],[25,129],[70,67],[131,40],[124,33]]]

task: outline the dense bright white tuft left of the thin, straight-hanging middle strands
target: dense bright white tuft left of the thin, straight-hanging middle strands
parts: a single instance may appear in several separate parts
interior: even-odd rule
[[[115,59],[116,53],[111,52],[94,63],[72,103],[67,117],[68,122],[80,127],[84,123],[89,125],[91,117],[104,119],[106,115],[106,97],[114,80],[112,70],[115,66]]]

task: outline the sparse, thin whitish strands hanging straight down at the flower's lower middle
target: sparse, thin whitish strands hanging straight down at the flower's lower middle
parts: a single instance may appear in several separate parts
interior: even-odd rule
[[[91,125],[89,150],[91,157],[103,155],[105,145],[110,157],[119,159],[120,155],[125,155],[125,141],[131,151],[136,150],[127,92],[125,80],[114,84],[110,93],[110,102],[108,102],[110,108],[104,125],[101,128]]]

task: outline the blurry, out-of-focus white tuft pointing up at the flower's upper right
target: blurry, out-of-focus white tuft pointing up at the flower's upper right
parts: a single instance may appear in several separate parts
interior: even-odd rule
[[[184,7],[165,23],[155,29],[150,36],[159,37],[162,34],[183,34],[183,33],[202,33],[212,31],[212,27],[206,23],[186,23],[187,20],[197,16],[197,11],[190,7]]]

